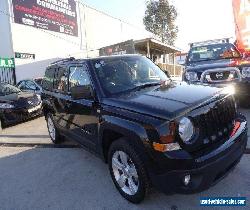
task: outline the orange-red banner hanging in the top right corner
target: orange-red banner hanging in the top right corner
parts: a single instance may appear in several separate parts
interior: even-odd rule
[[[250,0],[233,0],[236,45],[250,53]]]

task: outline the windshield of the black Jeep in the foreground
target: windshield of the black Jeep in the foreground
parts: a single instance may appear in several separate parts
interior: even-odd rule
[[[159,85],[169,80],[166,74],[145,57],[110,57],[92,61],[102,88],[107,94]]]

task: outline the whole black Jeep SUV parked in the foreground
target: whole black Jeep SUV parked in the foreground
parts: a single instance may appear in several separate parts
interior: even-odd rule
[[[153,185],[193,193],[240,161],[247,122],[226,88],[174,82],[146,57],[123,55],[52,63],[42,93],[49,135],[76,140],[109,165],[127,200]]]

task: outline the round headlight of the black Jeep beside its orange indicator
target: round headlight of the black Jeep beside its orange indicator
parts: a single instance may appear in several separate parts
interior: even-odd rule
[[[179,135],[184,143],[189,143],[194,135],[193,123],[187,117],[180,120]]]

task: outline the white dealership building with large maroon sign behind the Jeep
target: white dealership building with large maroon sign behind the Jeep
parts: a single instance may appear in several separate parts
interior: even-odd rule
[[[98,56],[99,49],[127,40],[160,63],[173,64],[179,51],[75,0],[1,0],[0,25],[0,81],[10,83],[43,76],[54,60]]]

